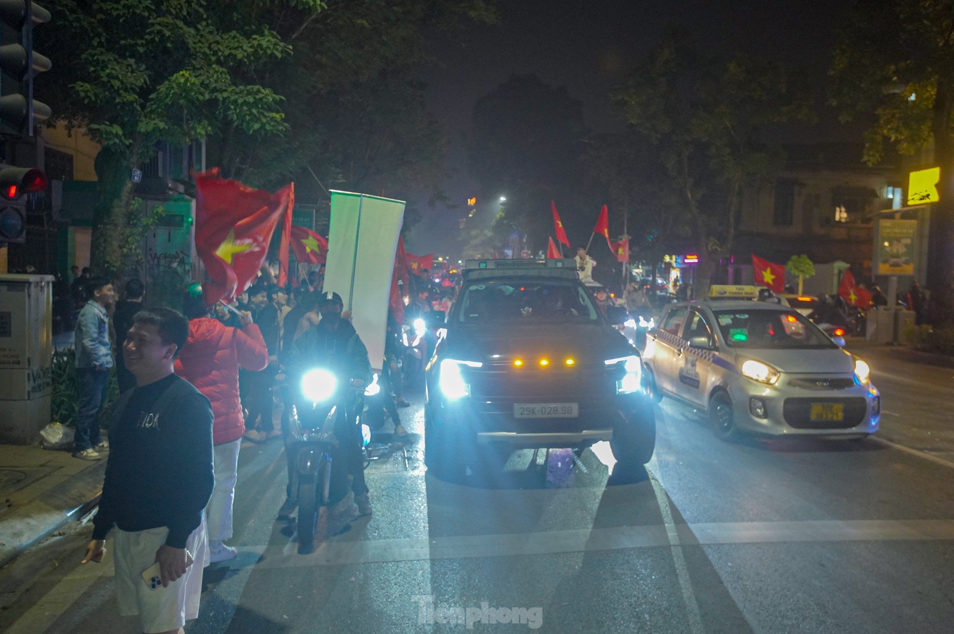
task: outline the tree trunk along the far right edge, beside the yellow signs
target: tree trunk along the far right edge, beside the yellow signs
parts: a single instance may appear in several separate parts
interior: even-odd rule
[[[934,162],[941,167],[938,194],[941,200],[931,210],[927,249],[927,288],[931,292],[929,319],[935,326],[954,321],[954,148],[950,139],[954,86],[938,82],[934,99],[932,133]]]

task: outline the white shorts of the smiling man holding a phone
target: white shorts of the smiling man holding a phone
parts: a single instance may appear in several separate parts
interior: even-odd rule
[[[142,580],[142,571],[156,562],[156,551],[166,542],[169,529],[150,528],[126,532],[118,528],[114,533],[114,562],[116,593],[119,599],[119,614],[139,617],[145,634],[166,632],[182,627],[186,621],[198,616],[198,600],[202,594],[202,568],[209,564],[206,547],[205,513],[202,523],[186,542],[193,562],[185,574],[155,590]]]

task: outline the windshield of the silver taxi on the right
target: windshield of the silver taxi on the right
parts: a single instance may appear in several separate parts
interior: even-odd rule
[[[836,348],[811,321],[795,311],[713,311],[719,332],[735,348]]]

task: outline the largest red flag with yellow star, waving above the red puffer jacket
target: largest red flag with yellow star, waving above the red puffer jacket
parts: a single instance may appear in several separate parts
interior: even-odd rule
[[[252,285],[295,194],[292,185],[275,194],[254,190],[221,178],[218,169],[197,174],[196,191],[196,252],[210,278],[202,292],[211,306]]]

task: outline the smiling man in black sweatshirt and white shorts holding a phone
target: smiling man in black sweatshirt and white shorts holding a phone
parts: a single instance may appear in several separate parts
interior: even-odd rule
[[[123,345],[135,389],[116,403],[106,480],[82,563],[100,562],[112,528],[119,612],[142,631],[176,632],[198,616],[208,563],[204,509],[215,485],[212,407],[173,372],[189,321],[137,313]],[[158,570],[143,579],[154,563]],[[155,581],[154,581],[155,579]]]

